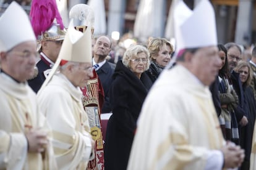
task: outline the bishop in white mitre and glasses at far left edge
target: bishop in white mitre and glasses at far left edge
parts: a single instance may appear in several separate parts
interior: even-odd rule
[[[37,56],[32,26],[17,2],[0,26],[0,169],[56,169],[46,119],[27,83]]]

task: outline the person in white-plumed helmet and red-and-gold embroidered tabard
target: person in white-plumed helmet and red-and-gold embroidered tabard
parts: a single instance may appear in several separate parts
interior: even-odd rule
[[[77,4],[70,9],[69,18],[75,22],[75,29],[82,33],[91,28],[94,31],[94,12],[87,4]],[[95,140],[95,158],[88,162],[87,169],[104,169],[103,135],[101,131],[101,108],[104,103],[104,91],[95,69],[93,76],[88,79],[87,87],[81,88],[83,92],[83,108],[89,118],[91,135]]]

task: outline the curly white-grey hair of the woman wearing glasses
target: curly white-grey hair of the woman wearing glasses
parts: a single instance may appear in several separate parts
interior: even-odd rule
[[[139,44],[128,47],[126,52],[124,52],[124,57],[122,57],[122,63],[127,68],[130,68],[130,60],[134,59],[134,57],[137,57],[137,55],[141,52],[144,52],[146,54],[146,58],[148,62],[145,70],[148,70],[150,66],[150,60],[149,60],[150,53],[148,52],[148,49],[146,47]]]

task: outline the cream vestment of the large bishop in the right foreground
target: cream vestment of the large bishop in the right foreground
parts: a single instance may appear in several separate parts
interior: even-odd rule
[[[209,152],[223,145],[208,87],[176,65],[161,73],[143,104],[128,169],[205,169]]]

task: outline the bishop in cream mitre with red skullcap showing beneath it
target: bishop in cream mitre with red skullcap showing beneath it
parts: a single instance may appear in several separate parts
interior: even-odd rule
[[[56,72],[59,67],[60,71]],[[71,21],[53,70],[37,94],[53,130],[59,169],[86,169],[94,157],[94,141],[80,91],[80,87],[87,86],[92,70],[90,28],[81,33]]]

